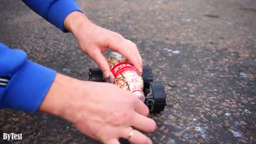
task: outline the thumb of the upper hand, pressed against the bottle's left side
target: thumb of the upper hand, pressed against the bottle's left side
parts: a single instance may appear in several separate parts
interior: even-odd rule
[[[100,67],[102,74],[109,78],[110,76],[110,66],[108,64],[108,61],[103,56],[103,54],[100,52],[99,49],[95,49],[93,53],[89,53],[90,57],[97,63],[97,65]]]

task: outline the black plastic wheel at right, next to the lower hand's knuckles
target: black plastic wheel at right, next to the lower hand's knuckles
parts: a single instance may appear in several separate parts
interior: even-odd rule
[[[161,83],[145,83],[144,93],[146,95],[145,103],[151,113],[164,110],[166,106],[166,94],[164,86]]]

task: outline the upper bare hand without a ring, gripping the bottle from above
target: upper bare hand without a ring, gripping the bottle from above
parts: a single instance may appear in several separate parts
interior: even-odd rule
[[[70,31],[81,49],[101,68],[104,76],[110,76],[110,67],[103,52],[110,48],[121,53],[134,67],[142,73],[142,59],[137,46],[129,39],[113,31],[94,25],[81,12],[70,13],[64,21],[65,28]]]

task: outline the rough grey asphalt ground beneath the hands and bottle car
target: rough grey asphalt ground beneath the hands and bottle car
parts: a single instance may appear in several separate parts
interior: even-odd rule
[[[256,1],[77,1],[97,25],[138,45],[144,65],[167,94],[150,114],[154,143],[256,143]],[[21,1],[0,2],[0,42],[41,65],[79,79],[97,67],[71,34],[63,34]],[[0,110],[1,143],[98,143],[46,114]]]

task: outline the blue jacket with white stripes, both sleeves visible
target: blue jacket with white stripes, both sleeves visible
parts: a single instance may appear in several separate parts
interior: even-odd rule
[[[81,11],[74,0],[23,0],[31,10],[66,32],[63,22]],[[82,12],[82,11],[81,11]],[[24,51],[0,43],[0,108],[35,113],[55,78],[56,71],[27,60]]]

